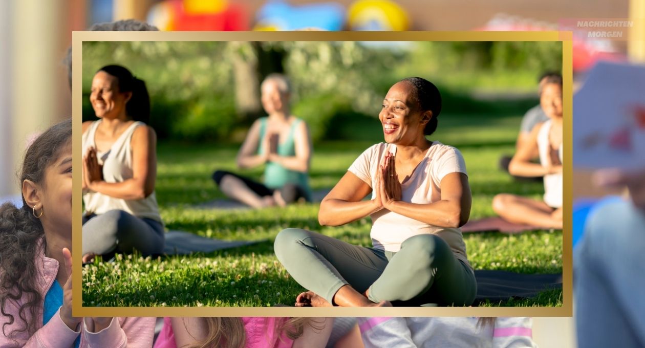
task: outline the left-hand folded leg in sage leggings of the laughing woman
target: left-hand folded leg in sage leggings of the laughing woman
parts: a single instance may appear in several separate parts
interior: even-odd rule
[[[304,229],[284,229],[275,238],[274,248],[293,279],[330,304],[343,285],[365,291],[388,263],[380,251]]]

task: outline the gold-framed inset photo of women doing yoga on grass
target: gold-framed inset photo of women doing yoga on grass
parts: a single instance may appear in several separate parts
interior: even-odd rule
[[[75,316],[572,314],[570,33],[74,32],[72,66]]]

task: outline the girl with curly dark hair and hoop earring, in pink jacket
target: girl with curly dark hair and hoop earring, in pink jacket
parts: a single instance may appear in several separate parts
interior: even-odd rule
[[[0,206],[0,347],[150,347],[155,318],[72,316],[72,120],[25,153],[23,206]]]

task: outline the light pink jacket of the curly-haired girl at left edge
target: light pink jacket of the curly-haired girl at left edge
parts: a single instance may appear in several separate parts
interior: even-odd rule
[[[59,263],[54,258],[45,255],[36,256],[36,269],[39,292],[42,301],[56,280]],[[112,322],[105,329],[90,333],[85,320],[79,325],[78,331],[67,327],[61,319],[60,309],[46,325],[43,323],[43,303],[37,312],[37,331],[30,335],[25,331],[8,335],[15,329],[23,329],[24,322],[19,318],[18,311],[27,300],[23,296],[18,301],[7,300],[4,311],[14,316],[14,323],[8,324],[9,317],[0,313],[0,348],[25,347],[25,348],[73,348],[74,341],[81,335],[81,348],[150,348],[154,337],[155,318],[112,318]],[[29,311],[24,312],[27,320],[32,320]],[[6,325],[5,325],[6,324]]]

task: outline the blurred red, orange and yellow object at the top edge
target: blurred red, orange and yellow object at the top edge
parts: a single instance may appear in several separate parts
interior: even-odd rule
[[[248,10],[226,0],[165,0],[148,12],[148,23],[166,31],[249,30]]]

